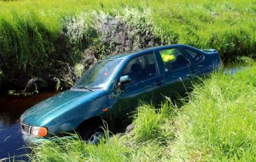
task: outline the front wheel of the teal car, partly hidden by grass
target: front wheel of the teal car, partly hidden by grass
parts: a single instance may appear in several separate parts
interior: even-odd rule
[[[91,144],[98,144],[104,136],[104,130],[99,125],[92,125],[86,126],[79,134],[82,140]]]

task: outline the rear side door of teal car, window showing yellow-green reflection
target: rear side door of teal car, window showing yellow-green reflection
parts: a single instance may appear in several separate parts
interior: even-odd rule
[[[188,92],[192,87],[198,66],[192,65],[187,55],[179,47],[160,49],[156,53],[160,55],[162,62],[160,68],[164,71],[165,77],[162,93],[171,96]]]

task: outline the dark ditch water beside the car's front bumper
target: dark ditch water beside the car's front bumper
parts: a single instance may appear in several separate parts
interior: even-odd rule
[[[0,94],[0,161],[3,158],[24,155],[29,151],[22,148],[24,143],[19,127],[19,117],[28,108],[56,93],[43,92],[31,97]],[[16,157],[14,159],[24,160],[24,157]]]

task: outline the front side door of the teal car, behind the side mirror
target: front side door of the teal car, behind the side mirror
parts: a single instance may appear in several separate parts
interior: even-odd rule
[[[135,110],[139,102],[150,102],[159,97],[159,87],[164,85],[164,75],[159,74],[154,53],[140,55],[130,60],[120,77],[129,76],[130,82],[112,91],[111,109],[122,125],[127,125],[129,112]]]

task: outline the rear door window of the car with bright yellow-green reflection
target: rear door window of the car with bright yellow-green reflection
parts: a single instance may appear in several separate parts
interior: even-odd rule
[[[179,49],[165,49],[159,50],[159,53],[164,62],[165,72],[180,69],[189,65],[189,62],[184,57]]]

